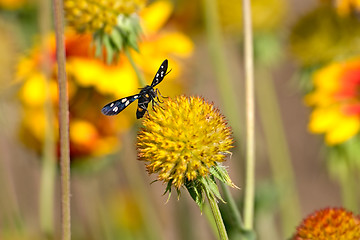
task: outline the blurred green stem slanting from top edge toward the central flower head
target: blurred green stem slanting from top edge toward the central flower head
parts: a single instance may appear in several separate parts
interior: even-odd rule
[[[234,136],[240,139],[242,124],[239,119],[241,119],[241,113],[237,104],[239,101],[236,98],[228,71],[229,64],[226,61],[224,41],[219,25],[217,1],[203,0],[203,8],[210,57],[216,74],[215,80],[224,106],[224,113],[229,119]]]

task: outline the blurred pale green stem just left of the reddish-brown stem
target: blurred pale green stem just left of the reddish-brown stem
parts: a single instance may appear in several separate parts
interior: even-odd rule
[[[53,209],[54,209],[54,186],[55,186],[55,137],[54,137],[54,112],[52,109],[50,96],[50,54],[49,46],[47,44],[47,35],[50,32],[50,2],[41,0],[39,2],[39,27],[41,32],[41,45],[44,60],[42,61],[42,72],[45,76],[46,91],[45,95],[45,136],[44,136],[44,151],[42,160],[41,186],[40,186],[40,225],[42,232],[49,238],[53,238]]]

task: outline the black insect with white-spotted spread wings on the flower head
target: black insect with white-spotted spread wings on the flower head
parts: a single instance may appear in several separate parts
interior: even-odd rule
[[[132,95],[125,98],[120,98],[119,100],[113,101],[109,104],[106,104],[102,109],[101,112],[105,115],[116,115],[122,110],[124,110],[127,106],[130,105],[133,101],[136,99],[139,99],[138,101],[138,108],[136,111],[136,118],[142,118],[144,114],[147,111],[147,107],[150,102],[152,104],[158,104],[157,101],[160,101],[158,98],[158,89],[154,89],[156,85],[158,85],[164,77],[170,72],[166,72],[168,67],[168,60],[165,59],[163,63],[161,64],[159,70],[157,71],[151,85],[146,85],[144,88],[141,88],[141,91],[139,94]],[[156,101],[157,99],[157,101]]]

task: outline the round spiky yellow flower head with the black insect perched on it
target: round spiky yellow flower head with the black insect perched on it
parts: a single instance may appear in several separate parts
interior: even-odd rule
[[[139,159],[147,162],[149,173],[177,189],[208,176],[233,143],[225,118],[200,97],[166,99],[143,124]]]

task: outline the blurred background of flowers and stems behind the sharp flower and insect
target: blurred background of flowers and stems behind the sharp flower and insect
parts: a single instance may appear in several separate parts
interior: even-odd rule
[[[207,209],[201,213],[185,191],[167,201],[166,185],[152,183],[156,176],[137,160],[136,104],[115,117],[101,108],[143,87],[133,63],[149,84],[169,59],[162,95],[202,96],[233,129],[225,165],[240,187],[231,194],[242,210],[241,1],[114,2],[64,1],[72,238],[217,239]],[[342,206],[359,214],[360,4],[253,0],[252,10],[255,227],[258,239],[287,239],[314,210]],[[111,14],[130,32],[122,43],[130,50],[111,42]],[[0,0],[1,240],[60,237],[55,56],[50,3]],[[220,208],[230,239],[238,239],[226,204]]]

